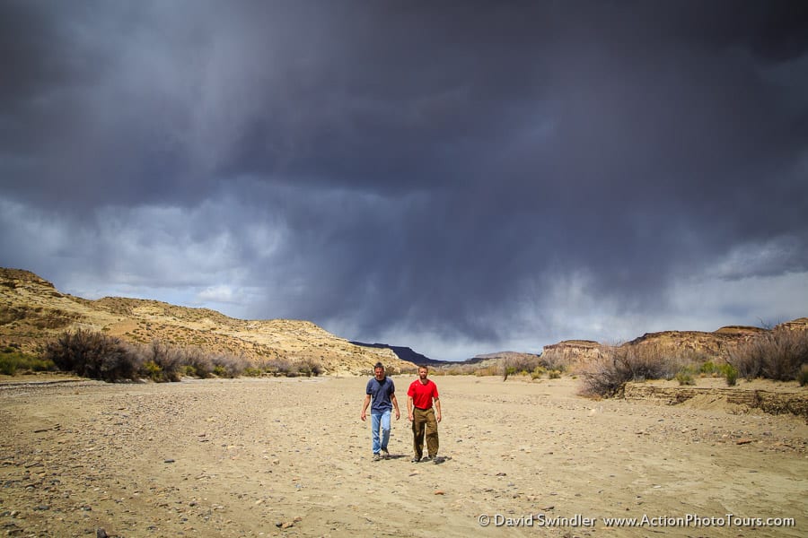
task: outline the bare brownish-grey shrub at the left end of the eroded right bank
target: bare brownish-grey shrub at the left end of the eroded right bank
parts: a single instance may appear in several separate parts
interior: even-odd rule
[[[679,367],[653,347],[612,346],[581,373],[584,395],[619,395],[628,381],[670,379]]]

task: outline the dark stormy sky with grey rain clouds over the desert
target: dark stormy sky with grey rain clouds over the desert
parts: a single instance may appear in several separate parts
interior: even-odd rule
[[[433,359],[808,316],[808,3],[0,1],[0,265]]]

